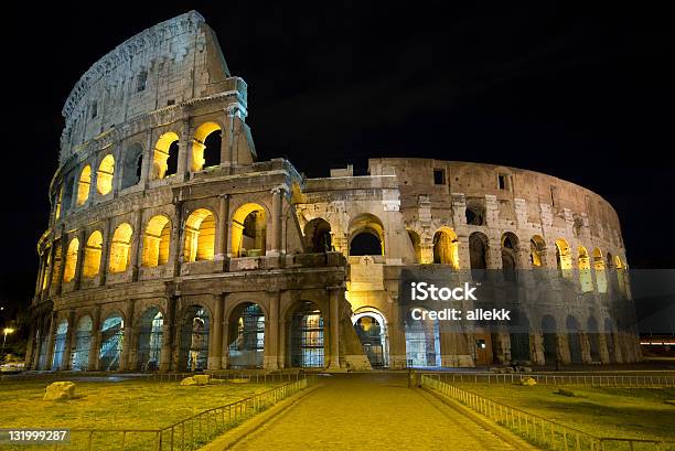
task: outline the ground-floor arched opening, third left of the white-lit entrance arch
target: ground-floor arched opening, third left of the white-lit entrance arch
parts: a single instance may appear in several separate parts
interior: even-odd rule
[[[181,324],[180,368],[189,372],[206,369],[211,315],[201,305],[191,305]]]

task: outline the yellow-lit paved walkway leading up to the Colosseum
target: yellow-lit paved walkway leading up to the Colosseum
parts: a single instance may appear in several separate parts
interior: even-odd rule
[[[512,450],[404,375],[349,374],[239,441],[235,450]]]

